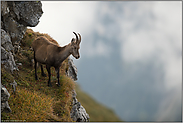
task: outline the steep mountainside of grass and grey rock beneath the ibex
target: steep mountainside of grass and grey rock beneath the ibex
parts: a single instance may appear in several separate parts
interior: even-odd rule
[[[27,26],[36,26],[42,14],[39,1],[1,1],[1,121],[89,121],[88,111],[90,121],[119,121],[111,110],[78,89],[74,82],[77,68],[70,58],[61,66],[61,87],[55,84],[54,69],[53,87],[47,87],[48,78],[41,77],[40,69],[39,80],[34,79],[31,43],[40,35],[51,37],[33,32]]]

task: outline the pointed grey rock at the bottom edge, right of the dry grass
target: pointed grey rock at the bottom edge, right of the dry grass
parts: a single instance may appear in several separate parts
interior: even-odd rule
[[[76,92],[73,90],[73,107],[70,112],[71,118],[76,122],[89,122],[89,115],[85,108],[76,99]]]

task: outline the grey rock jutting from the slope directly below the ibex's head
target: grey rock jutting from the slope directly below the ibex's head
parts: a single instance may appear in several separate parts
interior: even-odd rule
[[[69,76],[74,81],[77,80],[77,68],[73,63],[73,60],[71,58],[68,58],[68,70],[66,71],[66,75]]]

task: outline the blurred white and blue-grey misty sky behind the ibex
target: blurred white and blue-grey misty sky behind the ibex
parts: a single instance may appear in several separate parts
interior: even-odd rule
[[[124,121],[182,121],[181,1],[42,1],[34,31],[82,36],[77,83]]]

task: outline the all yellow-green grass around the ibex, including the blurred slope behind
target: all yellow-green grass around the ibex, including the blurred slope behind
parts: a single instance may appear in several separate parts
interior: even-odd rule
[[[12,75],[4,69],[3,65],[1,67],[1,82],[11,95],[8,102],[12,109],[11,113],[1,113],[1,121],[71,122],[70,110],[72,108],[73,89],[77,92],[78,101],[89,114],[90,121],[119,121],[110,109],[95,102],[65,75],[65,70],[68,69],[68,59],[63,62],[60,69],[60,87],[55,84],[57,77],[54,68],[51,68],[52,87],[47,86],[48,77],[41,76],[40,67],[38,68],[39,80],[35,80],[32,63],[33,51],[30,47],[32,41],[41,35],[54,41],[47,34],[27,30],[21,42],[22,51],[15,57],[17,63],[22,63],[22,66],[19,66],[19,72]],[[47,73],[46,69],[44,70]],[[13,80],[18,85],[15,94],[13,94],[13,89],[9,84]]]

